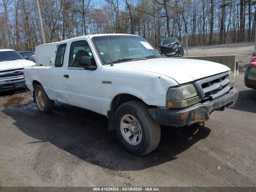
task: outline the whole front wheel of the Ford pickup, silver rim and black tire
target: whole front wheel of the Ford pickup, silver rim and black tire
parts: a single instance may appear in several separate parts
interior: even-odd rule
[[[145,155],[160,142],[160,125],[148,113],[148,106],[140,101],[122,104],[115,115],[116,135],[124,148],[136,155]]]

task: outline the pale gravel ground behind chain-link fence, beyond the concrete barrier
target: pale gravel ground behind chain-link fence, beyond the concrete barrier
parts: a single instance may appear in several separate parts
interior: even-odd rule
[[[185,55],[186,48],[184,47]],[[238,67],[248,64],[254,51],[254,42],[235,43],[226,45],[198,46],[188,48],[188,56],[208,56],[208,55],[236,55]]]

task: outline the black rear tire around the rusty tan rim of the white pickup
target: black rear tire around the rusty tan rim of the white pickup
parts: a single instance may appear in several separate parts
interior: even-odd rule
[[[39,98],[38,98],[38,92],[42,92],[42,97],[44,99],[44,106],[40,104]],[[42,113],[48,113],[51,112],[54,108],[54,100],[50,100],[44,91],[44,88],[42,85],[37,85],[34,88],[34,98],[37,105],[37,108]]]

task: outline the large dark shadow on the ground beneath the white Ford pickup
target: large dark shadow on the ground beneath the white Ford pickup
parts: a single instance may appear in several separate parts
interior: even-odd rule
[[[178,130],[163,126],[158,148],[145,156],[135,156],[122,148],[114,130],[108,130],[105,116],[88,110],[56,103],[49,114],[41,114],[35,104],[2,112],[15,120],[17,128],[37,140],[28,140],[28,145],[50,142],[81,160],[112,170],[142,170],[175,160],[210,134],[204,126]]]

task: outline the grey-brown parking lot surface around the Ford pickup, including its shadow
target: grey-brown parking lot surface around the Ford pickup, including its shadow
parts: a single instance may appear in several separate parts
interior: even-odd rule
[[[1,93],[0,186],[256,186],[256,90],[243,75],[233,108],[162,127],[146,156],[126,152],[105,116],[60,103],[41,114],[31,92]]]

